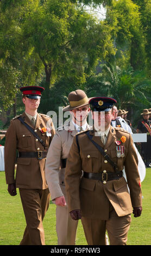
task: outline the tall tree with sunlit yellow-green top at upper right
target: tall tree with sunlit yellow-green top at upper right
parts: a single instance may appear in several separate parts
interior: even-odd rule
[[[114,0],[107,8],[106,21],[113,26],[112,36],[117,48],[116,57],[135,70],[146,66],[146,52],[139,7],[131,0]]]

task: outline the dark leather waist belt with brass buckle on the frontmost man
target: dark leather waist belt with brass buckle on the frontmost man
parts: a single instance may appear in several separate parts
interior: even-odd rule
[[[101,172],[101,173],[87,173],[87,172],[83,173],[83,177],[86,179],[100,180],[105,183],[108,180],[118,180],[119,178],[122,177],[122,175],[123,175],[122,171],[113,173],[113,172],[106,172],[106,170],[104,170],[104,172]]]

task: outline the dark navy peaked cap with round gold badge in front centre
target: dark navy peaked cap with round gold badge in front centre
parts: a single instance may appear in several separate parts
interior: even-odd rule
[[[111,110],[112,106],[117,101],[111,97],[92,97],[89,100],[89,104],[92,111],[105,111]]]

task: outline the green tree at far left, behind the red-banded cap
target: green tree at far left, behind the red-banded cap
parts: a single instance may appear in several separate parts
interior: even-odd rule
[[[22,51],[21,25],[35,1],[1,1],[0,2],[0,108],[7,111],[14,107],[16,113],[16,94],[18,87],[35,84],[40,68],[35,54],[26,58]],[[29,8],[30,7],[30,8]],[[29,68],[30,67],[30,68]],[[25,74],[26,69],[26,74]]]

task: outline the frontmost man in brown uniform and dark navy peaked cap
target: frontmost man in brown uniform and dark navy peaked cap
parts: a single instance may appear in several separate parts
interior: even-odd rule
[[[133,139],[129,132],[110,125],[116,100],[95,97],[89,103],[93,130],[75,136],[67,159],[69,211],[73,220],[81,218],[89,245],[105,245],[106,230],[110,245],[126,245],[131,212],[139,217],[142,211]],[[122,175],[124,167],[130,193]]]

